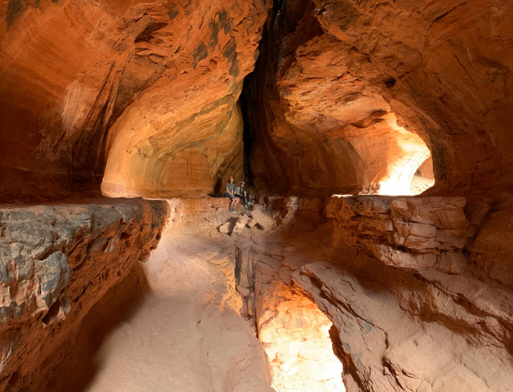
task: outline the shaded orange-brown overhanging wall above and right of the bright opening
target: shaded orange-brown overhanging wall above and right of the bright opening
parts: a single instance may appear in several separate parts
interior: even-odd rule
[[[314,0],[373,86],[433,156],[439,188],[511,188],[511,2]]]

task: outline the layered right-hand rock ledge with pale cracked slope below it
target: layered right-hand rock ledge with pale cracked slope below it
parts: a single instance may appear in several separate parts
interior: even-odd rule
[[[329,261],[293,279],[336,328],[349,392],[509,390],[510,258],[490,237],[499,223],[490,207],[465,197],[331,199]]]

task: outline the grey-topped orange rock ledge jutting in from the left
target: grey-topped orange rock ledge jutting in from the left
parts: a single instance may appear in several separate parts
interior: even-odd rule
[[[0,209],[0,389],[31,390],[48,376],[42,368],[71,349],[56,347],[148,259],[167,214],[165,202],[143,199]]]

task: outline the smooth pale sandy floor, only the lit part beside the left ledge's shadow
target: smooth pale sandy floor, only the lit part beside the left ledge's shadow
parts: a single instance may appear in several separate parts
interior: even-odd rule
[[[262,345],[236,312],[233,239],[163,232],[144,263],[150,293],[96,354],[89,392],[273,391]]]

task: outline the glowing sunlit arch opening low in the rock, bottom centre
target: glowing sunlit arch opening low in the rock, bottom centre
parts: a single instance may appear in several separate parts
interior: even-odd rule
[[[277,392],[345,391],[343,365],[334,354],[328,317],[297,291],[283,288],[274,299],[264,298],[265,310],[257,313],[271,386]]]

